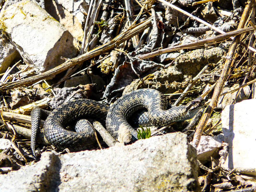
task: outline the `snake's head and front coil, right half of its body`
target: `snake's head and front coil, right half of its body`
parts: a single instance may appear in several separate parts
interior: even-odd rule
[[[136,130],[127,123],[127,120],[135,111],[146,108],[151,124],[155,127],[161,127],[175,121],[193,118],[204,104],[205,100],[202,97],[198,97],[188,102],[187,105],[176,106],[166,110],[167,100],[161,92],[154,89],[139,89],[116,100],[108,111],[106,127],[116,139],[118,138],[119,128],[125,127],[130,130],[132,140],[136,140]]]

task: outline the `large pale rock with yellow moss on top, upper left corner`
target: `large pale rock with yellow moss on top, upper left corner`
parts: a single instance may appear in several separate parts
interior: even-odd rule
[[[77,50],[67,29],[32,1],[20,1],[0,13],[5,33],[26,63],[37,72],[52,69]]]

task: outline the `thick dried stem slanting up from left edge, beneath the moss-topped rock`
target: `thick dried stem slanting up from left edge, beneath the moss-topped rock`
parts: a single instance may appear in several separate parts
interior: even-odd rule
[[[19,86],[24,86],[27,84],[33,84],[37,81],[40,81],[42,79],[46,79],[49,78],[53,75],[59,74],[62,71],[65,71],[67,69],[69,69],[70,67],[73,67],[83,61],[86,61],[90,58],[93,58],[97,55],[100,55],[104,52],[107,52],[111,49],[113,49],[115,46],[120,45],[122,42],[130,39],[131,37],[133,37],[136,34],[141,33],[142,31],[144,31],[146,28],[151,26],[151,19],[152,17],[149,17],[148,19],[146,19],[145,21],[141,22],[140,24],[137,24],[133,27],[130,27],[129,29],[123,31],[120,35],[118,35],[117,37],[115,37],[114,39],[112,39],[110,42],[99,46],[83,55],[80,55],[76,58],[67,60],[66,62],[62,63],[61,65],[50,69],[49,71],[46,71],[44,73],[38,74],[36,76],[33,77],[29,77],[23,80],[19,80],[19,81],[14,81],[14,82],[9,82],[9,83],[3,83],[0,86],[0,91],[4,92],[6,90],[9,90],[11,88],[16,88]]]

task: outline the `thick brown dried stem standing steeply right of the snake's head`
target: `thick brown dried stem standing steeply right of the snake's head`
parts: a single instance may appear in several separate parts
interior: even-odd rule
[[[241,20],[240,20],[239,25],[238,25],[238,29],[241,29],[241,28],[244,27],[244,24],[247,20],[248,14],[251,10],[251,7],[252,7],[252,2],[249,0],[248,4],[244,8],[243,14],[241,16]],[[204,127],[205,127],[208,119],[210,118],[210,115],[211,115],[213,109],[215,108],[215,106],[217,104],[217,101],[220,97],[221,91],[223,90],[223,86],[224,86],[224,83],[227,80],[228,72],[230,70],[231,63],[233,62],[233,56],[234,56],[235,51],[237,49],[239,39],[240,39],[240,35],[236,36],[236,38],[233,40],[233,42],[230,46],[229,52],[228,52],[227,57],[226,57],[226,61],[223,65],[223,69],[222,69],[220,78],[219,78],[219,80],[218,80],[218,82],[215,86],[214,93],[212,95],[211,101],[210,101],[204,115],[202,116],[202,118],[201,118],[201,120],[200,120],[200,122],[197,126],[193,141],[191,142],[191,145],[193,145],[194,147],[198,146],[198,144],[200,142],[201,135],[204,131]]]

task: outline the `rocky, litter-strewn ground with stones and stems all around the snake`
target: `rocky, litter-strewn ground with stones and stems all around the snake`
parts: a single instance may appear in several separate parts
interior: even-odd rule
[[[255,4],[0,1],[1,189],[255,191]],[[33,159],[33,108],[141,88],[206,106],[130,145],[96,123],[99,145],[60,151],[41,131]]]

